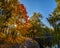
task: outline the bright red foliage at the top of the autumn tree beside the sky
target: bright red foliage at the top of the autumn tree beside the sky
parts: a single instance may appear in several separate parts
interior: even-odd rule
[[[18,7],[19,7],[19,18],[23,18],[26,24],[27,22],[29,22],[26,8],[24,7],[23,4],[19,4]]]

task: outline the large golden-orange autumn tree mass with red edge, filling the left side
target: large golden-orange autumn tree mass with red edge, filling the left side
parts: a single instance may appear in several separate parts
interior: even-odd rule
[[[7,43],[24,41],[29,21],[26,9],[18,0],[0,0],[0,40]],[[24,34],[23,34],[24,33]],[[14,41],[15,40],[15,41]]]

